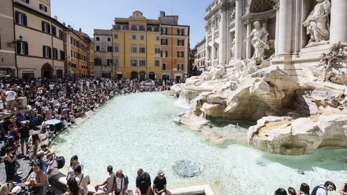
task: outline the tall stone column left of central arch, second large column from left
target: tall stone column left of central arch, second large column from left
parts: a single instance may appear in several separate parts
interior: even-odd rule
[[[242,58],[242,0],[235,3],[235,59]]]

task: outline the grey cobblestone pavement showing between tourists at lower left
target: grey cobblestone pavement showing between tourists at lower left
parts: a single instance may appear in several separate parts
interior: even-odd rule
[[[39,131],[41,125],[36,126],[34,130]],[[30,130],[30,134],[33,133],[33,129]],[[0,142],[0,147],[4,144],[3,141]],[[20,151],[20,146],[18,147],[18,151]],[[24,151],[25,151],[25,146],[24,146]],[[29,157],[28,156],[22,156],[18,155],[17,156],[18,162],[20,164],[20,168],[18,169],[18,172],[22,172],[22,174],[15,176],[13,181],[17,182],[15,186],[22,186],[22,194],[24,194],[28,188],[25,187],[24,182],[20,181],[22,177],[25,177],[27,173],[29,173],[30,169],[32,168],[33,164],[28,164],[29,162]],[[5,163],[3,162],[3,157],[0,157],[0,182],[1,184],[5,183],[6,181],[6,171],[5,171]],[[56,195],[61,195],[64,194],[65,191],[63,192],[62,190],[58,189],[57,187],[54,186],[48,186],[48,190],[51,190],[54,192]],[[49,193],[47,195],[50,195]]]

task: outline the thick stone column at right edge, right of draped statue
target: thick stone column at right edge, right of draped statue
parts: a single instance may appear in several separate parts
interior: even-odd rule
[[[347,0],[331,1],[330,44],[347,43]]]

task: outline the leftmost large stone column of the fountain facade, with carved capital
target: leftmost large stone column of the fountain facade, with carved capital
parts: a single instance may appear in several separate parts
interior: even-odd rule
[[[223,2],[220,5],[221,13],[218,16],[220,18],[219,23],[219,64],[225,65],[227,62],[227,15],[229,10],[229,3]]]

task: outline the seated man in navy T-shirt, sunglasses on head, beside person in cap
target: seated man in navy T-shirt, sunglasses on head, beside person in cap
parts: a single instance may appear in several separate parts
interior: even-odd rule
[[[135,195],[150,195],[152,194],[151,176],[149,173],[138,169],[136,176],[136,192]]]

